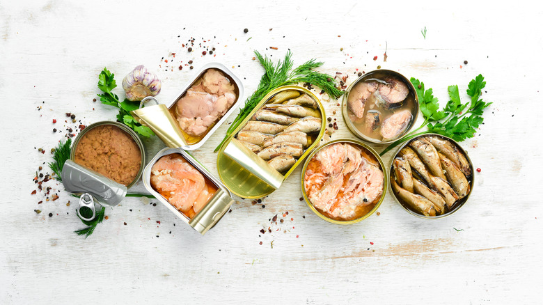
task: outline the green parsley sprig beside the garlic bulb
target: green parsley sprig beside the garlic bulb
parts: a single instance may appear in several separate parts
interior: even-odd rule
[[[107,68],[104,68],[104,70],[100,72],[100,75],[98,75],[98,88],[100,88],[100,90],[104,92],[102,94],[98,94],[98,96],[100,97],[100,101],[102,101],[102,104],[117,107],[119,109],[117,120],[132,128],[134,132],[137,132],[138,134],[141,134],[142,136],[145,136],[147,138],[155,135],[155,133],[152,132],[149,127],[143,126],[140,123],[136,122],[136,120],[134,120],[134,118],[130,114],[130,111],[139,108],[139,102],[132,102],[127,99],[125,99],[123,102],[120,102],[119,97],[115,93],[111,92],[117,86],[114,77],[115,75],[109,72]]]

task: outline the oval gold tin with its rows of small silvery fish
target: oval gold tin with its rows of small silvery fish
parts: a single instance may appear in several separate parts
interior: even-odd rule
[[[219,149],[219,178],[242,198],[272,194],[320,142],[324,118],[324,107],[311,91],[301,86],[276,88],[262,98]],[[283,158],[280,162],[290,162],[288,166],[274,164],[279,157]]]

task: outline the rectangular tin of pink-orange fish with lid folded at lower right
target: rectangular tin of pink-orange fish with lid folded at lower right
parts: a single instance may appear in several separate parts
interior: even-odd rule
[[[204,235],[234,203],[228,189],[181,148],[164,148],[143,170],[143,185]]]

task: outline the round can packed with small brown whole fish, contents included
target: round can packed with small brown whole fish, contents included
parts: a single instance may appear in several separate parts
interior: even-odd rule
[[[440,134],[404,143],[389,169],[395,201],[416,217],[447,217],[462,208],[473,191],[471,159],[456,141]]]

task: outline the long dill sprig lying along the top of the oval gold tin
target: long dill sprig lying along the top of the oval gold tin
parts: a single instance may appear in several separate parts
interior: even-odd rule
[[[267,58],[267,56],[262,56],[258,51],[255,51],[255,56],[258,58],[260,65],[264,68],[264,75],[260,78],[260,83],[255,92],[247,98],[245,106],[239,111],[239,114],[230,127],[228,127],[226,136],[219,146],[215,148],[215,152],[221,148],[226,139],[228,139],[228,136],[234,132],[246,116],[253,111],[258,102],[275,88],[292,84],[309,83],[321,88],[326,94],[334,99],[343,95],[343,91],[336,87],[337,82],[333,77],[314,70],[324,64],[321,61],[310,59],[309,61],[306,61],[306,63],[299,65],[299,67],[292,70],[294,63],[292,62],[292,52],[290,51],[285,54],[285,59],[283,61],[280,60],[275,65],[272,63],[272,59]]]

